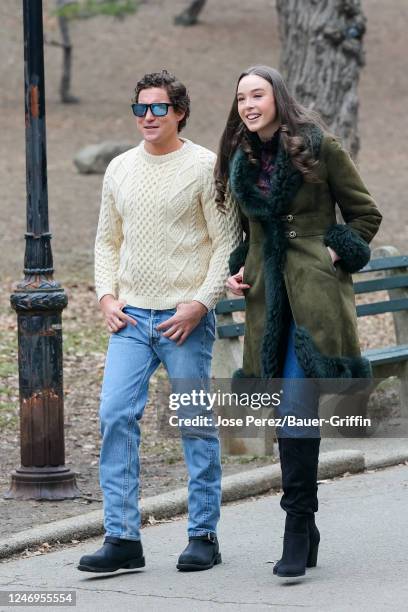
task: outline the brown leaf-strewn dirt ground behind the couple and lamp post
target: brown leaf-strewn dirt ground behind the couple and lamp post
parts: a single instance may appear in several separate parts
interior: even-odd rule
[[[45,34],[58,38],[54,3],[48,7]],[[129,102],[137,78],[166,67],[184,80],[192,98],[185,136],[216,149],[239,72],[254,63],[278,65],[279,39],[271,0],[209,0],[202,21],[180,29],[172,17],[185,0],[147,0],[124,21],[95,18],[71,28],[74,45],[72,91],[79,105],[58,100],[61,53],[46,47],[47,147],[50,227],[56,277],[69,294],[64,312],[64,376],[67,463],[78,472],[84,497],[74,502],[24,505],[0,499],[2,526],[9,531],[100,506],[97,484],[99,436],[97,407],[107,334],[92,288],[93,241],[101,176],[79,175],[72,163],[87,144],[114,139],[136,143]],[[368,18],[367,65],[360,85],[362,149],[359,166],[384,215],[374,246],[393,244],[407,252],[408,138],[406,108],[405,0],[363,0]],[[21,277],[25,231],[25,148],[21,4],[0,3],[0,492],[18,465],[18,411],[15,315],[8,306],[12,283]],[[360,322],[363,348],[393,342],[391,318]],[[185,482],[177,441],[155,429],[155,406],[163,378],[151,386],[144,419],[143,495]],[[226,464],[242,469],[244,459]],[[258,465],[257,459],[248,463]]]

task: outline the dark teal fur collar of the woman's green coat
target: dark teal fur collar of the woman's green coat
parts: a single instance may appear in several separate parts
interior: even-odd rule
[[[317,126],[308,126],[305,135],[317,157],[323,132]],[[259,159],[260,140],[256,134],[251,134],[250,137],[255,155]],[[238,148],[230,164],[230,186],[244,214],[258,221],[280,217],[303,184],[303,175],[292,164],[282,146],[280,136],[269,193],[265,194],[257,186],[258,176],[259,164],[251,164],[242,149]]]

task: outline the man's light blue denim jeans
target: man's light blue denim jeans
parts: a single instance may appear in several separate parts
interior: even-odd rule
[[[124,312],[136,319],[137,325],[126,325],[109,341],[100,406],[100,485],[106,535],[139,540],[139,421],[149,379],[163,363],[171,381],[200,380],[205,387],[210,378],[215,315],[208,312],[177,346],[155,329],[176,309],[127,306]],[[189,473],[188,534],[216,533],[221,504],[218,431],[209,427],[202,435],[181,429],[181,434]]]

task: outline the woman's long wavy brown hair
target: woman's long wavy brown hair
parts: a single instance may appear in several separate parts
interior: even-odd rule
[[[217,207],[225,210],[225,196],[229,179],[229,164],[238,147],[247,155],[251,164],[258,164],[256,151],[251,144],[251,132],[238,114],[237,90],[241,79],[250,74],[262,77],[272,85],[275,97],[276,112],[281,131],[281,143],[289,154],[293,165],[307,182],[318,182],[315,159],[307,137],[306,126],[317,125],[324,132],[327,126],[318,113],[308,110],[297,102],[289,93],[280,72],[269,66],[252,66],[239,76],[235,88],[235,97],[228,115],[227,124],[221,136],[217,163],[214,169]]]

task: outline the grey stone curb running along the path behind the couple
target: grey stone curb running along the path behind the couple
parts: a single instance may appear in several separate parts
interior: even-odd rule
[[[407,456],[395,454],[384,456],[381,465],[394,465],[408,459]],[[368,467],[368,466],[367,466]],[[369,466],[373,468],[374,465]],[[319,480],[334,478],[345,473],[357,473],[366,469],[364,454],[355,450],[340,450],[322,453],[319,459]],[[280,465],[273,464],[226,476],[222,485],[222,501],[231,502],[253,495],[260,495],[272,489],[280,489]],[[142,522],[149,519],[169,519],[187,512],[186,489],[176,489],[154,497],[141,500]],[[47,525],[41,525],[20,531],[12,535],[7,543],[0,544],[0,559],[21,552],[31,546],[44,542],[70,542],[103,533],[102,510],[94,510],[79,516],[74,516]]]

